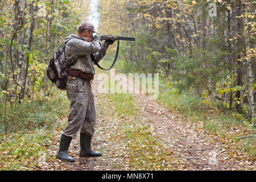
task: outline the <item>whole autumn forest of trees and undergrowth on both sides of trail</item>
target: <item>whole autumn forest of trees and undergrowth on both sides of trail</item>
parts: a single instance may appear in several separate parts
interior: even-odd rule
[[[50,129],[68,113],[65,93],[49,82],[46,68],[63,40],[88,19],[91,3],[0,1],[2,138]],[[195,119],[225,115],[206,126],[212,132],[229,121],[255,131],[255,6],[252,0],[100,0],[98,31],[136,38],[121,42],[115,69],[159,73],[159,100]],[[111,64],[115,45],[102,64]]]

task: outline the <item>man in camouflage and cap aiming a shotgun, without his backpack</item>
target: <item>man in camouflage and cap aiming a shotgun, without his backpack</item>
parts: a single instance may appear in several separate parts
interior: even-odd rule
[[[108,47],[112,45],[115,40],[125,39],[123,37],[118,38],[118,36],[106,35],[93,37],[94,32],[97,31],[94,29],[92,23],[82,22],[77,31],[77,35],[71,34],[64,41],[66,44],[65,58],[69,61],[74,61],[73,63],[75,64],[72,64],[68,70],[66,90],[68,99],[71,101],[71,107],[68,124],[61,133],[57,158],[68,162],[75,162],[75,159],[68,154],[68,148],[71,140],[76,138],[76,134],[79,130],[81,147],[79,156],[101,156],[100,152],[95,152],[91,148],[91,140],[96,124],[96,110],[91,86],[95,74],[93,64],[98,65],[98,62],[105,56]],[[101,39],[105,41],[101,43]],[[115,55],[115,60],[117,54]]]

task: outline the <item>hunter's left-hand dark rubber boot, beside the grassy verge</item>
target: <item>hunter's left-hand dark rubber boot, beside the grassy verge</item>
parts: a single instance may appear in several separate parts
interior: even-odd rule
[[[65,135],[61,134],[60,137],[60,147],[57,153],[57,159],[66,160],[68,162],[75,162],[75,159],[71,158],[68,154],[68,147],[71,143],[72,137],[66,137]]]

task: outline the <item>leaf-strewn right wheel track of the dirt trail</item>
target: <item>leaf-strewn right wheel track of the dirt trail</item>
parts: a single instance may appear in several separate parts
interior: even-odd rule
[[[235,143],[227,144],[220,137],[205,133],[203,122],[184,120],[144,94],[134,95],[134,99],[142,106],[142,119],[151,123],[154,134],[181,158],[181,170],[255,169],[255,162],[239,154]]]

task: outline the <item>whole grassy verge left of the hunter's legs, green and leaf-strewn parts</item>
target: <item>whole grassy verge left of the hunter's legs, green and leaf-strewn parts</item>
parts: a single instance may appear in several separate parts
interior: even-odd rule
[[[56,131],[63,126],[60,118],[68,114],[69,101],[64,92],[55,90],[55,95],[47,100],[24,100],[21,104],[8,105],[5,127],[1,125],[0,134],[0,170],[36,170],[43,160],[55,156],[49,154]],[[1,123],[5,114],[3,103],[0,104]]]

